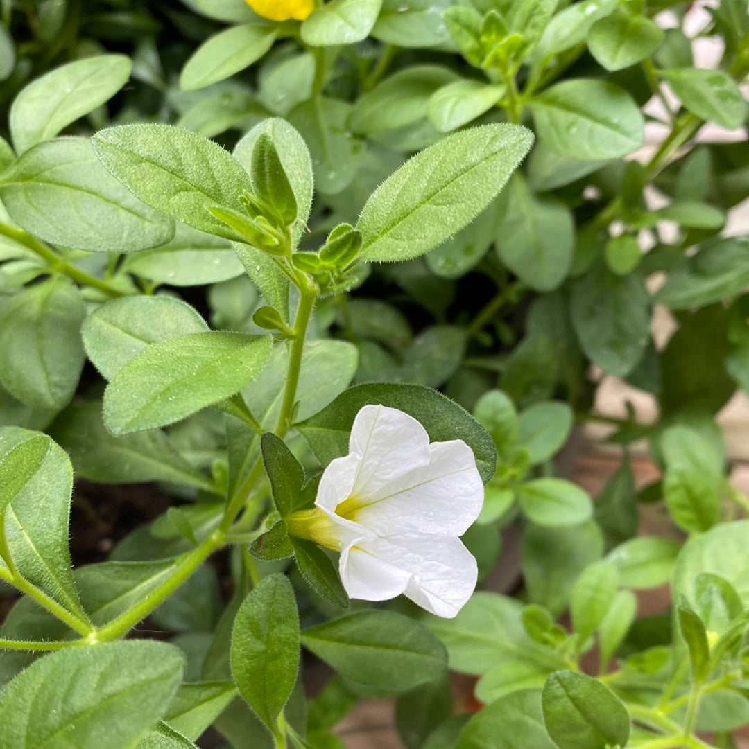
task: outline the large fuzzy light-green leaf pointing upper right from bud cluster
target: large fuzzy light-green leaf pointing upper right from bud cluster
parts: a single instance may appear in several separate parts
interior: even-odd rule
[[[359,258],[407,260],[433,249],[481,212],[531,142],[523,128],[485,125],[409,159],[364,205],[356,225],[364,237]]]

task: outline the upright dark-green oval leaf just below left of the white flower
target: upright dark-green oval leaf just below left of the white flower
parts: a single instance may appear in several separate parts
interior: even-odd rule
[[[265,577],[241,604],[232,629],[232,674],[239,694],[271,733],[299,665],[299,616],[283,574]]]

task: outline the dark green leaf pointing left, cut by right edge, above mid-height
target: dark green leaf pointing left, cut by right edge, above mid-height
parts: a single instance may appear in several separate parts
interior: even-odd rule
[[[669,273],[654,301],[690,309],[733,297],[749,284],[749,237],[727,237],[704,244]]]

